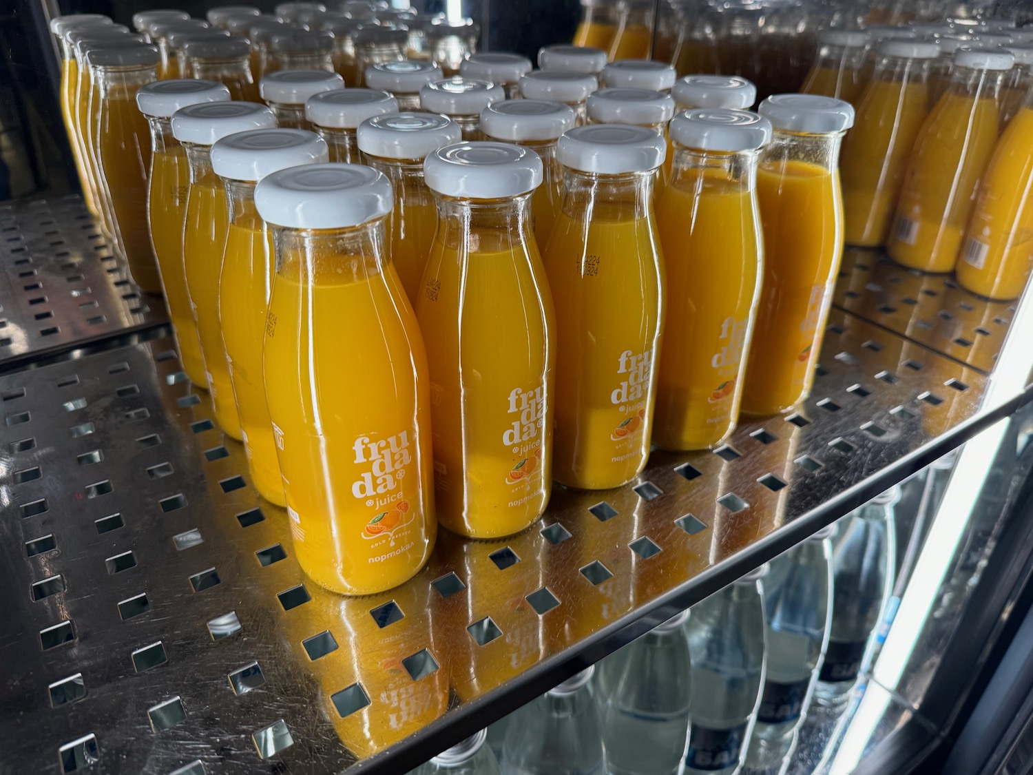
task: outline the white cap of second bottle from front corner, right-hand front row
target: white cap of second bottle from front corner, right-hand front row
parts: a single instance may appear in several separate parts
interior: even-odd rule
[[[509,143],[453,143],[424,160],[424,179],[445,196],[500,199],[541,185],[541,157]]]

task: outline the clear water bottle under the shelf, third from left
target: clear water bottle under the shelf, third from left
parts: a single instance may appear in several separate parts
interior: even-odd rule
[[[689,732],[689,612],[606,657],[596,671],[606,775],[674,775]]]

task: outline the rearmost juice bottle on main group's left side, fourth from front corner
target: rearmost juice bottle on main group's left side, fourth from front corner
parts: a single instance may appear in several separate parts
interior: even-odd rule
[[[151,171],[147,193],[151,244],[158,259],[180,362],[190,381],[201,389],[208,388],[208,376],[183,266],[183,224],[190,171],[183,146],[173,136],[171,116],[187,105],[227,101],[229,90],[225,86],[194,79],[157,81],[136,92],[136,106],[151,126]]]

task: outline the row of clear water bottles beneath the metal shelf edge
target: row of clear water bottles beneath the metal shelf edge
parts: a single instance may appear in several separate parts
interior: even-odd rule
[[[414,771],[775,775],[884,637],[894,488]]]

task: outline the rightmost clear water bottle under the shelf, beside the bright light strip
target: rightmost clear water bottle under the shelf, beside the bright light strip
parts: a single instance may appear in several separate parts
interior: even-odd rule
[[[879,623],[894,565],[894,503],[900,488],[872,498],[837,525],[833,540],[833,618],[818,674],[819,702],[845,702]]]

